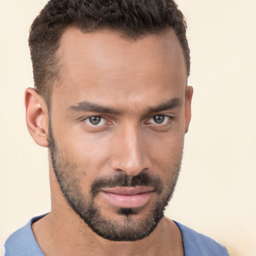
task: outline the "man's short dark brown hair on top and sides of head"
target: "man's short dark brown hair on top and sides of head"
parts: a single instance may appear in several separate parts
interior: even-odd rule
[[[49,0],[34,19],[28,38],[35,89],[50,107],[52,84],[59,78],[56,51],[67,27],[81,31],[107,28],[136,39],[172,28],[190,70],[186,22],[173,0]]]

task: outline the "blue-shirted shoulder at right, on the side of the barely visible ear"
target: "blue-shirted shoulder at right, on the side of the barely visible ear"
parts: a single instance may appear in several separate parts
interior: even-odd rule
[[[194,231],[176,221],[184,246],[184,256],[228,256],[226,248],[210,237]]]

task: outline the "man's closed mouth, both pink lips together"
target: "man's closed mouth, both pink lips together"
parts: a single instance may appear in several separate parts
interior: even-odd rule
[[[154,189],[151,187],[111,187],[103,188],[100,193],[111,204],[122,208],[134,208],[146,204]]]

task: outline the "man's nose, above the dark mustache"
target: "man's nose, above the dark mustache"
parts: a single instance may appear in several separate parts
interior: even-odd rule
[[[136,125],[126,126],[115,133],[111,167],[126,175],[135,176],[150,168],[147,143]]]

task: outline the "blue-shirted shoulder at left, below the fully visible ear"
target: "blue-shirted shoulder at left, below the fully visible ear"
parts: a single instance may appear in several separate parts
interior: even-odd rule
[[[31,223],[44,215],[30,219],[26,225],[13,232],[4,244],[4,256],[43,256],[31,229]]]

